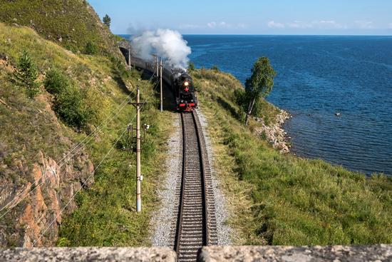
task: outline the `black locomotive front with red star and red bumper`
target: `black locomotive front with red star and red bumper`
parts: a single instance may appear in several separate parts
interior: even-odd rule
[[[197,106],[192,77],[186,73],[182,73],[177,79],[177,90],[177,109],[181,111],[192,111]]]

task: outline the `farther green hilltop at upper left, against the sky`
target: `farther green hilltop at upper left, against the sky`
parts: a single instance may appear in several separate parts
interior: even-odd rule
[[[71,51],[83,52],[87,42],[93,41],[105,53],[120,55],[116,37],[87,1],[0,0],[0,21],[29,26],[43,38]]]

